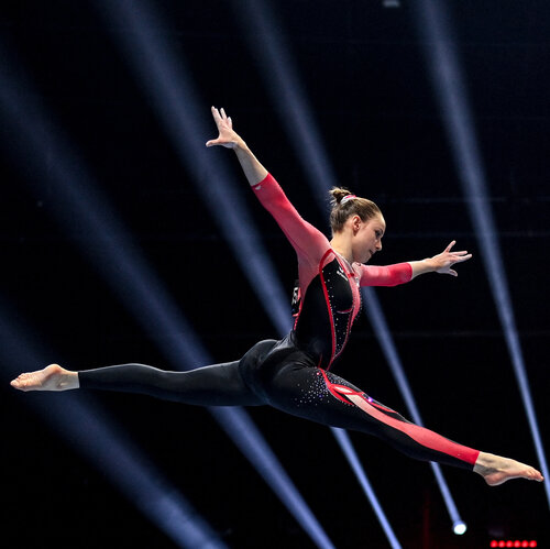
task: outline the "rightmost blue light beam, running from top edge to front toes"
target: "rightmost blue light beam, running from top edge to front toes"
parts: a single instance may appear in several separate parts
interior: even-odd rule
[[[446,13],[440,2],[421,0],[415,11],[417,26],[422,36],[430,78],[436,90],[441,118],[444,121],[447,136],[451,144],[460,183],[464,195],[469,198],[470,218],[480,249],[483,251],[481,254],[482,261],[490,279],[491,292],[503,327],[537,458],[542,475],[548,479],[548,463],[529,389],[514,308],[508,292],[506,270],[496,237],[497,228],[488,201],[485,169],[477,144],[474,119],[470,109],[465,80],[458,55],[450,40],[452,32],[446,22]],[[550,484],[548,482],[544,483],[544,490],[550,506]]]

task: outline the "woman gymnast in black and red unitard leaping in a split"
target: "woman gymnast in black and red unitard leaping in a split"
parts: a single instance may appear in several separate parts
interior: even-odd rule
[[[374,435],[411,458],[474,471],[490,485],[517,477],[541,482],[536,469],[411,424],[331,372],[361,309],[361,286],[395,286],[431,272],[457,276],[453,265],[471,254],[453,252],[453,241],[443,252],[422,261],[365,265],[382,250],[386,229],[374,202],[346,189],[332,189],[329,241],[298,215],[235,133],[223,109],[212,107],[212,116],[219,136],[207,146],[233,149],[252,190],[298,256],[299,288],[290,333],[279,341],[260,341],[238,361],[188,372],[166,372],[144,364],[74,372],[51,364],[21,374],[12,386],[21,391],[124,391],[202,406],[267,404],[312,421]]]

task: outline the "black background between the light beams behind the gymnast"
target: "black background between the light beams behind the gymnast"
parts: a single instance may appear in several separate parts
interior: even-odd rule
[[[113,0],[114,2],[117,0]],[[163,0],[157,32],[185,57],[202,119],[223,106],[237,130],[274,173],[302,216],[326,230],[290,143],[283,112],[260,77],[262,36],[251,51],[239,14],[246,2]],[[377,290],[426,425],[453,440],[537,465],[482,250],[415,28],[415,2],[272,2],[276,31],[340,184],[378,202],[387,221],[380,263],[422,259],[455,238],[474,259],[451,278],[427,275]],[[88,166],[117,216],[164,281],[216,361],[239,358],[276,337],[241,267],[154,109],[117,46],[128,28],[107,25],[102,2],[2,2],[2,56],[21,96],[50,112]],[[548,441],[547,344],[549,152],[548,2],[440,2],[465,77],[497,226],[518,336],[542,440]],[[4,59],[8,61],[8,57]],[[8,66],[8,62],[6,63]],[[4,79],[6,84],[6,79]],[[2,85],[2,83],[0,83]],[[26,90],[26,91],[23,91]],[[23,114],[22,114],[23,116]],[[158,338],[143,331],[82,246],[94,234],[56,221],[55,187],[21,162],[13,125],[0,132],[2,314],[22,323],[43,363],[2,353],[2,546],[174,547],[100,468],[62,438],[8,381],[50,362],[87,369],[122,362],[170,367]],[[216,136],[197,134],[204,143]],[[48,143],[44,142],[47,156]],[[14,154],[15,149],[19,156]],[[233,161],[212,150],[217,163]],[[290,295],[294,252],[250,196],[277,272]],[[205,183],[206,184],[206,183]],[[76,183],[75,183],[76,185]],[[219,216],[226,205],[219,204]],[[67,212],[70,217],[70,212]],[[100,257],[100,251],[99,257]],[[106,260],[107,261],[107,260]],[[145,314],[145,312],[144,312]],[[23,344],[23,343],[22,343]],[[6,351],[6,349],[4,349]],[[403,398],[369,321],[354,329],[340,373],[398,410]],[[46,398],[64,398],[47,395]],[[147,397],[95,394],[102,409],[163,471],[230,547],[312,547],[310,539],[204,409]],[[47,406],[47,400],[44,400]],[[44,408],[40,408],[44,409]],[[328,428],[268,408],[250,414],[337,547],[386,547],[384,534]],[[114,419],[113,419],[114,421]],[[82,429],[86,429],[82,426]],[[362,464],[404,547],[488,547],[493,538],[548,537],[543,487],[497,488],[461,470],[446,479],[469,530],[451,531],[430,468],[375,439],[351,435]]]

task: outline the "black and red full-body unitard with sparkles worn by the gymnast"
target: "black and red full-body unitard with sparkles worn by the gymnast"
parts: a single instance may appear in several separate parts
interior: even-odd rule
[[[407,421],[396,411],[330,372],[361,309],[360,286],[409,282],[409,263],[350,265],[327,238],[306,222],[271,176],[253,187],[298,256],[296,321],[284,339],[256,343],[239,361],[166,372],[121,364],[79,372],[80,387],[125,391],[196,405],[258,406],[386,440],[425,461],[472,469],[477,450]]]

